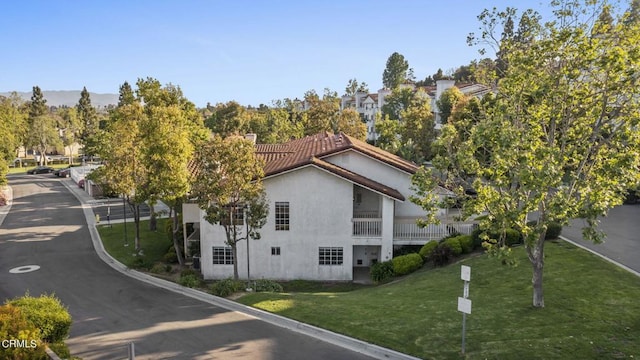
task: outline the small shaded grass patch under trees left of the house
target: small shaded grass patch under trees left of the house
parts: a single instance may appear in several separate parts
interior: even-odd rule
[[[102,244],[105,250],[118,259],[121,263],[128,267],[136,267],[138,259],[142,258],[145,263],[153,264],[156,261],[162,261],[167,250],[172,245],[171,239],[165,233],[165,223],[167,219],[158,219],[158,231],[149,231],[149,221],[140,222],[140,248],[143,250],[143,256],[135,256],[134,250],[134,234],[135,224],[130,221],[127,223],[127,240],[129,246],[124,246],[124,224],[112,224],[98,226]]]

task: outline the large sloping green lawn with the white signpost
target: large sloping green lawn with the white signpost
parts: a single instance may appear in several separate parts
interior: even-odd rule
[[[545,305],[531,268],[486,255],[354,291],[253,293],[237,301],[426,359],[640,357],[640,278],[568,243],[545,246]],[[471,267],[466,357],[460,354],[460,264]]]

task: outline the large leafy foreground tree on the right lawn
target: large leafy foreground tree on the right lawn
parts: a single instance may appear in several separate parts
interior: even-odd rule
[[[593,22],[584,19],[597,18],[606,3],[554,5],[561,10],[554,11],[556,21],[540,24],[529,13],[530,41],[494,44],[503,45],[509,64],[496,98],[482,103],[468,134],[445,125],[439,140],[445,155],[434,160],[447,181],[473,174],[477,197],[464,203],[463,213],[486,214],[481,226],[502,233],[485,242],[490,253],[508,254],[507,228],[523,234],[534,307],[544,307],[550,224],[582,218],[583,237],[601,241],[597,218],[622,203],[640,166],[640,26],[617,16],[608,32],[592,37]],[[480,20],[486,32],[479,40],[488,41],[496,38],[493,25],[506,18],[492,13]],[[422,195],[433,190],[427,170],[414,185]],[[426,195],[412,200],[428,211],[434,204]]]

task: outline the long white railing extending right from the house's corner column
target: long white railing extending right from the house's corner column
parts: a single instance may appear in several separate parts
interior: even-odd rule
[[[477,227],[473,222],[449,222],[419,227],[415,219],[395,219],[394,240],[440,240],[454,233],[468,235]]]

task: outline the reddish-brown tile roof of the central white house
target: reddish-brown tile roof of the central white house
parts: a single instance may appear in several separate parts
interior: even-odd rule
[[[418,169],[412,162],[344,133],[321,132],[284,144],[256,145],[256,154],[265,160],[265,177],[313,165],[366,188],[404,201],[404,196],[397,190],[323,160],[347,150],[357,151],[409,174],[415,173]]]

